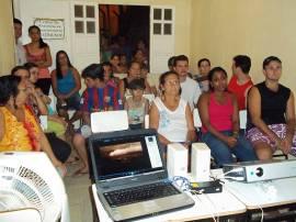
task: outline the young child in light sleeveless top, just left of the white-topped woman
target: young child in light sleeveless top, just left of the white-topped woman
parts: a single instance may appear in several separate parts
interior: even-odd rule
[[[124,109],[128,114],[129,129],[143,129],[145,115],[149,110],[149,101],[143,97],[145,90],[145,80],[132,80],[129,82],[129,89],[132,97],[129,97],[124,104]]]

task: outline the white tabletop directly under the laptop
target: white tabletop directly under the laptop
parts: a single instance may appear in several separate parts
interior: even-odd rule
[[[112,221],[99,200],[95,185],[92,185],[92,193],[100,221]],[[195,204],[192,208],[177,210],[174,212],[163,213],[157,217],[145,218],[138,221],[192,221],[246,212],[244,204],[227,190],[224,190],[220,193],[191,197],[195,201]]]

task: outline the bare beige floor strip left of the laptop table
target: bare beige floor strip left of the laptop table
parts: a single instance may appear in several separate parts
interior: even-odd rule
[[[68,165],[68,175],[72,175],[79,165]],[[89,175],[64,178],[69,199],[71,222],[92,222],[92,207],[89,196]]]

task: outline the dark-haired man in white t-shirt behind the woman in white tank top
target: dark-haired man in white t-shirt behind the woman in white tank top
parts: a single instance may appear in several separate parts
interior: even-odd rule
[[[191,110],[194,109],[201,96],[198,84],[189,77],[189,58],[185,55],[175,56],[173,69],[178,73],[181,84],[181,97],[189,102]]]

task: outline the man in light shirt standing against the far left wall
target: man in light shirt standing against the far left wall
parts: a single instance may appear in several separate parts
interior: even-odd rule
[[[18,65],[24,65],[26,63],[25,51],[23,44],[19,38],[22,36],[23,24],[20,20],[13,19],[14,37],[15,37],[15,63]]]

